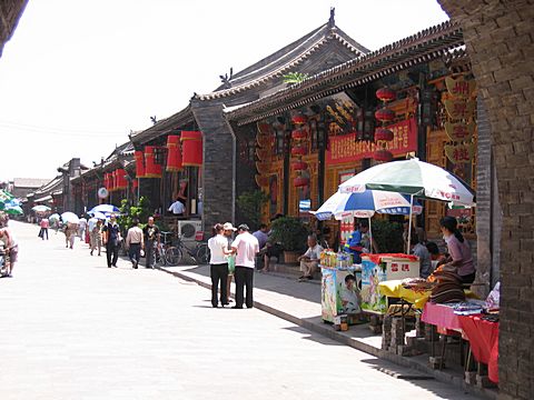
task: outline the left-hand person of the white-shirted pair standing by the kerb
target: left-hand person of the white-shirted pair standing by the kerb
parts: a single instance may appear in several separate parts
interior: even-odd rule
[[[215,236],[208,240],[210,252],[209,264],[211,274],[211,306],[218,307],[217,291],[220,282],[220,304],[228,306],[227,281],[228,281],[228,259],[231,253],[228,249],[228,239],[222,236],[224,227],[217,223],[214,227]]]

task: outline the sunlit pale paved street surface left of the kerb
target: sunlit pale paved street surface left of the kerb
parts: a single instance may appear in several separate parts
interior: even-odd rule
[[[212,309],[209,291],[127,261],[106,267],[63,236],[10,222],[0,280],[0,399],[472,399],[263,311]]]

